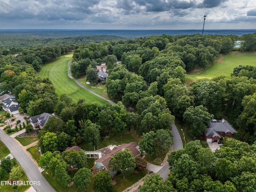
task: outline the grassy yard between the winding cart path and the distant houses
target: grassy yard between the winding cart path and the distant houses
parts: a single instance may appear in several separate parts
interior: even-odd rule
[[[95,92],[96,94],[99,94],[100,96],[104,97],[104,98],[108,98],[108,94],[107,94],[107,88],[106,88],[106,84],[102,84],[102,83],[98,83],[98,84],[86,84],[86,76],[82,76],[80,78],[77,79],[83,86],[85,86],[86,88],[92,90],[93,92]]]

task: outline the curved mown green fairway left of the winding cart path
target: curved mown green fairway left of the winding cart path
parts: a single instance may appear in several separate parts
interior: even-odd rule
[[[38,72],[38,76],[40,78],[49,78],[58,96],[67,94],[75,103],[81,98],[86,100],[86,102],[105,104],[107,101],[90,93],[68,77],[68,62],[70,60],[72,60],[72,54],[61,56],[53,62],[44,65],[40,72]]]

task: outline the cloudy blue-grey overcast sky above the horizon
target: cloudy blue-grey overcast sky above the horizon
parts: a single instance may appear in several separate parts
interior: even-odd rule
[[[255,0],[0,0],[0,29],[255,29]]]

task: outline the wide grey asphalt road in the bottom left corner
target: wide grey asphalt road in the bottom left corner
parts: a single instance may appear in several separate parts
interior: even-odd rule
[[[38,168],[34,165],[32,160],[28,157],[26,152],[19,146],[19,144],[10,136],[8,136],[3,130],[0,129],[0,139],[10,150],[12,156],[16,158],[24,172],[28,176],[28,179],[33,182],[40,181],[40,185],[33,185],[34,189],[38,192],[55,192],[55,190],[46,181],[44,176],[40,173]]]

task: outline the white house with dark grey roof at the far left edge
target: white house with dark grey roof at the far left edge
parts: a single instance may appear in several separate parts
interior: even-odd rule
[[[9,112],[11,115],[19,113],[19,103],[16,100],[15,96],[11,94],[4,94],[0,96],[0,102],[2,103],[2,108]]]

